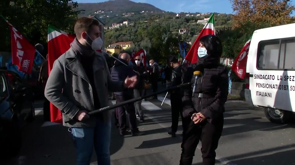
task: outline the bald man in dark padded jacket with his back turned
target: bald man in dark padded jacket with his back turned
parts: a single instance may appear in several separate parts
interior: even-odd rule
[[[122,53],[119,57],[119,60],[128,65],[130,61],[130,55],[128,53]],[[132,70],[131,67],[126,66],[118,61],[115,62],[114,67],[111,69],[111,76],[112,80],[114,81],[124,80],[127,77],[131,77],[133,75],[135,75],[135,72]],[[131,88],[125,89],[123,92],[115,92],[114,94],[117,103],[134,98],[133,89]],[[129,119],[129,125],[131,127],[132,136],[142,135],[142,133],[137,128],[134,103],[130,103],[128,105],[117,108],[120,134],[128,134],[128,131],[126,130],[126,112]]]

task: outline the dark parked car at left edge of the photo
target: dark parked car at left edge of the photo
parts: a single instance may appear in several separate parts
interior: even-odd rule
[[[21,129],[35,118],[31,87],[12,71],[0,70],[1,156],[17,154],[22,144]]]

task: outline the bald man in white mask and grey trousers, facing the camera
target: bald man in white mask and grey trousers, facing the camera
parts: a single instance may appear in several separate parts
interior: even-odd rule
[[[133,70],[137,71],[137,73],[139,74],[137,77],[138,83],[134,87],[134,97],[135,98],[144,96],[144,82],[147,79],[147,70],[144,68],[144,64],[141,61],[142,61],[141,56],[135,57],[136,65],[134,66]],[[141,108],[141,100],[136,101],[134,103],[134,106],[135,106],[135,111],[136,111],[135,112],[136,117],[138,119],[140,119],[141,122],[143,122],[144,121],[144,112]]]

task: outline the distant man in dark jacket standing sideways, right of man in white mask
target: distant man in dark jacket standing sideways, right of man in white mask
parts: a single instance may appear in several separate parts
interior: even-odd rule
[[[150,66],[151,87],[153,88],[153,93],[155,93],[158,90],[158,79],[160,77],[159,65],[154,60],[150,60]],[[151,99],[158,99],[158,96],[154,95],[153,97],[151,97]]]

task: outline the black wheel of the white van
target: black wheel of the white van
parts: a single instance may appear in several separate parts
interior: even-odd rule
[[[288,123],[293,116],[293,113],[290,111],[267,107],[264,108],[264,114],[269,121],[279,124]]]

